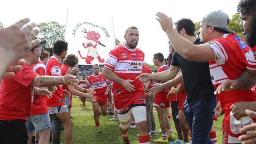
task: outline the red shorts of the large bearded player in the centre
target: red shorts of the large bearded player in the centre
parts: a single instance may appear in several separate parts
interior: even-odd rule
[[[130,110],[131,105],[146,105],[144,90],[125,94],[114,92],[114,102],[117,113],[126,113]]]

